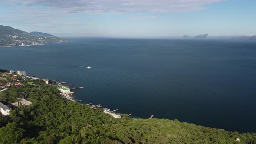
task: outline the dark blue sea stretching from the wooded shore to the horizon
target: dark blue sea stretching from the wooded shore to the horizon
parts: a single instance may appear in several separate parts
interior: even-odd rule
[[[86,86],[82,103],[137,118],[256,132],[256,42],[72,38],[0,48],[0,69]]]

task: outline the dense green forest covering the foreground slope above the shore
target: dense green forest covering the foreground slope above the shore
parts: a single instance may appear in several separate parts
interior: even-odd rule
[[[29,82],[29,83],[28,83]],[[56,88],[32,80],[0,93],[4,103],[29,94],[29,106],[0,115],[0,144],[256,144],[255,133],[228,132],[168,119],[113,118],[102,110],[66,101]],[[0,88],[1,89],[1,88]],[[236,141],[240,138],[240,142]]]

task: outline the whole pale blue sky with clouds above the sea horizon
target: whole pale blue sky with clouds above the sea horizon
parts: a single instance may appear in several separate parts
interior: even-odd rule
[[[61,37],[256,35],[256,0],[0,0],[0,25]]]

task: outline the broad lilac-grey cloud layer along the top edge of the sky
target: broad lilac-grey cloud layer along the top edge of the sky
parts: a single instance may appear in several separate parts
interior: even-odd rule
[[[203,10],[226,0],[11,0],[26,6],[43,5],[69,13],[178,13]]]

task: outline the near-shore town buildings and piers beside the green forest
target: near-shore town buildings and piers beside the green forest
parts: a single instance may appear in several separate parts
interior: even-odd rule
[[[9,87],[24,87],[24,82],[26,82],[26,80],[32,80],[32,81],[43,81],[48,85],[52,85],[53,87],[55,87],[56,89],[59,90],[59,94],[62,96],[62,98],[68,100],[68,101],[74,101],[74,102],[79,102],[81,100],[74,100],[72,98],[75,98],[75,96],[73,96],[73,94],[75,94],[75,89],[79,89],[79,88],[85,88],[85,86],[83,87],[79,87],[79,88],[69,88],[70,86],[65,86],[63,84],[65,84],[66,82],[55,82],[56,80],[49,80],[49,79],[40,79],[38,77],[33,77],[33,76],[28,76],[26,75],[25,71],[14,71],[14,70],[10,70],[9,72],[4,72],[0,74],[0,93],[7,91]],[[33,84],[33,82],[26,82],[26,84],[30,84],[30,85],[34,85],[36,88],[41,88],[40,85],[35,85]],[[3,116],[8,116],[10,111],[12,110],[13,107],[16,106],[20,106],[20,105],[31,105],[32,102],[26,100],[26,95],[24,93],[24,98],[17,98],[17,101],[15,103],[10,103],[10,104],[3,104],[0,101],[0,111],[2,113]],[[115,109],[113,111],[110,111],[110,109],[108,108],[102,108],[102,105],[98,104],[98,105],[91,105],[92,103],[89,104],[85,104],[88,105],[90,108],[97,110],[97,109],[101,109],[105,114],[109,114],[112,115],[114,118],[122,118],[121,115],[117,115],[114,113],[114,111],[117,111],[118,109]],[[131,115],[131,114],[129,114]]]

